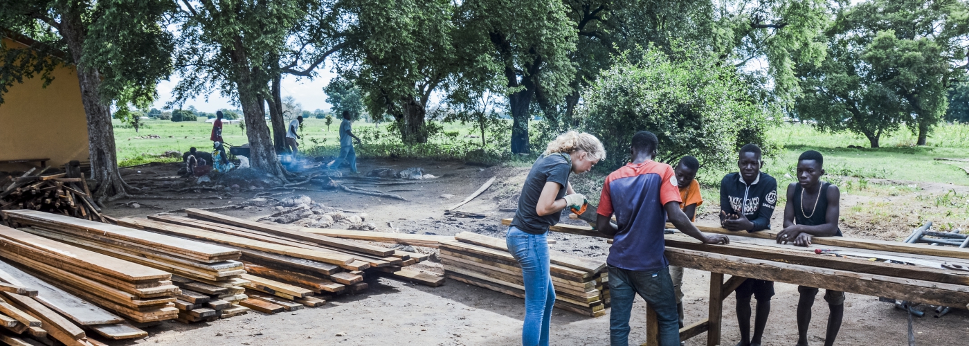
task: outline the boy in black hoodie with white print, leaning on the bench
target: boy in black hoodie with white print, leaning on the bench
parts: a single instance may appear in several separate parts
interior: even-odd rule
[[[727,174],[720,181],[720,223],[725,229],[750,233],[770,229],[770,215],[777,204],[777,180],[761,172],[763,165],[761,147],[744,145],[737,161],[740,172]],[[774,296],[774,282],[747,279],[735,292],[736,318],[740,327],[737,346],[760,346],[770,314],[770,298]],[[750,337],[751,296],[757,298],[753,338]]]

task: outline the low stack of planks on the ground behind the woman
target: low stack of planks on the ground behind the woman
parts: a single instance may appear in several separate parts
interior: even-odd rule
[[[504,239],[468,232],[441,241],[445,277],[519,298],[525,297],[521,267]],[[555,307],[586,316],[606,314],[610,296],[606,262],[551,254]]]

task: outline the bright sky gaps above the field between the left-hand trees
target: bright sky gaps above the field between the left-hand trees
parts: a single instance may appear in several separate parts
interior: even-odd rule
[[[293,96],[297,100],[297,103],[302,105],[302,110],[329,110],[329,104],[327,103],[327,94],[323,92],[323,88],[329,83],[329,79],[336,77],[328,69],[321,70],[320,74],[316,79],[310,80],[306,78],[297,79],[295,76],[283,76],[282,81],[282,96]],[[152,106],[156,109],[162,110],[165,104],[172,101],[172,89],[180,79],[177,76],[172,76],[171,80],[162,80],[158,83],[158,100]],[[201,110],[205,112],[215,112],[215,110],[229,109],[235,110],[239,109],[238,106],[234,106],[230,103],[228,98],[223,97],[218,90],[212,90],[208,94],[208,100],[205,100],[206,95],[199,96],[195,99],[185,102],[184,108],[189,106],[195,106],[196,110]]]

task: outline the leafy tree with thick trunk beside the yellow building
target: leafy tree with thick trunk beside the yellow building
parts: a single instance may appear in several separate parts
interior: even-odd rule
[[[174,10],[165,0],[0,2],[3,26],[37,41],[0,48],[0,94],[15,81],[39,76],[47,84],[54,68],[77,66],[99,203],[137,191],[118,172],[110,107],[153,100],[158,81],[171,74],[172,35],[160,23]]]

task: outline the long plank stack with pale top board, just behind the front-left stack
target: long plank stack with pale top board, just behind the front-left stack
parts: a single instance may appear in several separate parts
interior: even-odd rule
[[[123,226],[33,210],[9,210],[4,211],[4,214],[13,223],[29,226],[20,228],[24,235],[17,235],[16,238],[21,241],[26,238],[43,239],[46,243],[71,246],[90,256],[100,256],[99,258],[102,260],[109,258],[130,267],[146,267],[164,273],[166,275],[164,287],[170,290],[165,305],[166,314],[164,318],[140,316],[132,311],[119,310],[120,306],[106,306],[107,302],[97,300],[101,299],[100,297],[91,298],[76,293],[83,299],[117,311],[122,316],[136,322],[161,319],[197,322],[205,320],[212,313],[217,313],[215,318],[219,318],[234,316],[245,311],[241,306],[233,305],[234,302],[246,299],[245,289],[242,285],[248,283],[241,278],[245,269],[241,262],[236,261],[240,256],[238,250],[181,237],[159,235]],[[26,260],[21,259],[21,261]],[[183,292],[179,289],[179,286],[188,283],[221,289],[219,290],[219,297],[215,297],[215,299],[223,299],[229,306],[220,304],[218,309],[206,312],[203,317],[192,315],[188,312],[189,310],[185,309],[185,307],[192,306],[176,301],[176,299],[191,294],[191,292]],[[147,289],[151,287],[151,284],[147,281],[139,281],[137,288]],[[61,288],[72,293],[75,293],[73,290],[79,288],[70,284],[66,286]],[[159,289],[154,288],[154,290]],[[206,298],[211,299],[212,297],[206,296]],[[228,312],[225,311],[227,309]]]

